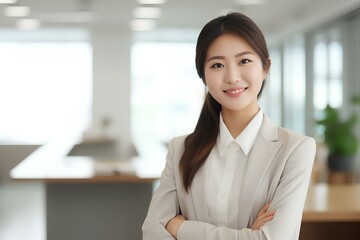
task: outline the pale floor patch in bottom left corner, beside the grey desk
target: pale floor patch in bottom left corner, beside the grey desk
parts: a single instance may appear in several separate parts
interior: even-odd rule
[[[42,183],[0,183],[0,239],[45,240],[45,204]]]

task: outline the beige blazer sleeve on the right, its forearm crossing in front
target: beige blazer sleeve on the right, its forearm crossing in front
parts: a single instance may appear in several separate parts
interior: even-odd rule
[[[298,239],[315,156],[315,141],[305,138],[287,156],[281,179],[271,201],[276,209],[273,220],[259,230],[216,227],[199,221],[185,221],[177,233],[178,240],[289,240]]]

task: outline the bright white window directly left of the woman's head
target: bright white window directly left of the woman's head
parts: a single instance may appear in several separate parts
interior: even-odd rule
[[[132,47],[132,135],[167,143],[191,133],[204,99],[194,43],[135,43]]]

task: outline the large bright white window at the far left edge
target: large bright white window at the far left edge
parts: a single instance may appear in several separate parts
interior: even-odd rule
[[[87,42],[0,42],[0,141],[42,144],[90,124]]]

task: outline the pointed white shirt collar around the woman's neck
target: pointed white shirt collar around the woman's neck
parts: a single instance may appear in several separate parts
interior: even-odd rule
[[[220,113],[219,136],[217,139],[217,146],[219,149],[220,157],[223,157],[231,142],[236,142],[244,154],[247,156],[254,145],[256,136],[260,130],[263,120],[263,111],[260,109],[255,117],[250,121],[246,128],[235,139],[231,136],[227,129],[222,114]]]

